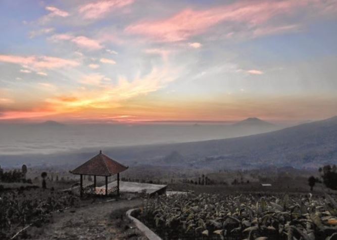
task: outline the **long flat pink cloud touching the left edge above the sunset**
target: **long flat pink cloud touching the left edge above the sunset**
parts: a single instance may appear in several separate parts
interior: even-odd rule
[[[63,58],[48,57],[48,56],[14,56],[14,55],[0,55],[0,62],[14,63],[20,65],[27,65],[32,68],[62,68],[62,67],[76,67],[79,65],[74,60],[68,60]]]

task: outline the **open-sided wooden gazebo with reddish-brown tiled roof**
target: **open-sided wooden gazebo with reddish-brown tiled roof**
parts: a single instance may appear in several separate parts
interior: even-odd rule
[[[90,160],[83,163],[81,166],[70,171],[73,174],[80,175],[80,196],[83,196],[83,190],[85,189],[88,193],[93,194],[105,194],[106,196],[115,193],[119,195],[119,173],[125,171],[128,167],[116,162],[115,160],[109,158],[107,155],[100,153]],[[108,189],[108,177],[117,174],[117,186],[111,186]],[[83,186],[83,175],[93,176],[93,182]],[[105,191],[104,188],[96,188],[96,176],[105,177]],[[93,191],[92,191],[93,187]]]

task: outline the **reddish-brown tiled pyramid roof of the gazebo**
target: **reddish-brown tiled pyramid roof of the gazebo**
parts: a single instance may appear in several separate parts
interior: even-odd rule
[[[126,169],[128,169],[128,167],[112,160],[100,151],[98,155],[70,172],[83,175],[111,176],[123,172]]]

